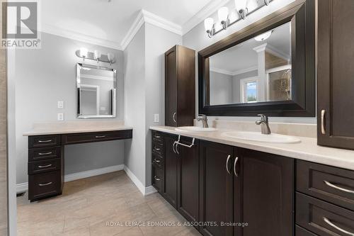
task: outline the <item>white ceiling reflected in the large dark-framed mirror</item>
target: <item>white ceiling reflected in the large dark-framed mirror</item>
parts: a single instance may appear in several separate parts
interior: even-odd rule
[[[234,74],[248,69],[254,70],[258,65],[258,56],[253,48],[264,43],[267,43],[268,48],[278,52],[282,57],[290,59],[290,23],[274,28],[273,33],[267,40],[258,42],[251,38],[240,45],[212,55],[210,57],[210,68],[219,72],[224,71],[224,74]]]

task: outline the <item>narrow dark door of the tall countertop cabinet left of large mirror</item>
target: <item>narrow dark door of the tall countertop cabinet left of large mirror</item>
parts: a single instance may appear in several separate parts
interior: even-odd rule
[[[177,46],[165,53],[165,125],[177,126]]]

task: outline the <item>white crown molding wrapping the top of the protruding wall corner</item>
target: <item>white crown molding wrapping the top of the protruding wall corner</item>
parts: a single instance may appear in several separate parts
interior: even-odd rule
[[[172,33],[182,35],[181,26],[171,21],[167,21],[165,18],[161,18],[160,16],[157,16],[154,13],[142,9],[139,11],[137,18],[135,18],[135,21],[132,23],[132,26],[130,26],[127,35],[125,35],[125,37],[122,40],[122,43],[120,45],[122,50],[125,50],[127,45],[129,45],[130,41],[132,41],[137,31],[139,30],[140,27],[142,27],[144,23],[150,23],[153,26],[157,26],[159,28],[169,30]]]

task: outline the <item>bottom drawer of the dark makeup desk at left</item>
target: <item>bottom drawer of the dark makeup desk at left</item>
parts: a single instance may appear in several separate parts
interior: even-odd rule
[[[31,174],[28,176],[28,198],[30,201],[54,196],[61,192],[60,171]]]

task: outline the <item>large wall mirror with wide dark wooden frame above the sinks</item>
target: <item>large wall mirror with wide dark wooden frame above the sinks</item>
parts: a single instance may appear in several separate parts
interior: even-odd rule
[[[199,113],[315,115],[314,0],[293,4],[199,52]]]

